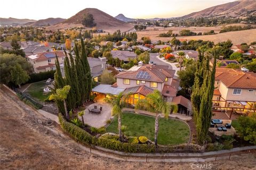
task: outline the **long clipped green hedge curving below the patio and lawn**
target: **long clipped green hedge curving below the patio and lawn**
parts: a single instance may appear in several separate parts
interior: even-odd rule
[[[79,141],[85,145],[100,146],[102,148],[118,150],[122,152],[155,152],[154,145],[123,143],[120,141],[93,137],[90,133],[79,128],[75,124],[67,122],[61,114],[59,114],[59,122],[63,131],[68,133],[76,141]]]

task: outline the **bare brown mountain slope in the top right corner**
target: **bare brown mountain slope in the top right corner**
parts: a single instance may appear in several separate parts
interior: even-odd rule
[[[184,18],[198,18],[198,17],[215,17],[215,16],[232,16],[239,17],[247,14],[256,14],[256,0],[240,0],[212,6],[205,10],[193,12],[183,16]]]

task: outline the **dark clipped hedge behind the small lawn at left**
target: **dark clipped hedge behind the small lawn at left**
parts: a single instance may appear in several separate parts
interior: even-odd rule
[[[55,70],[30,74],[30,79],[26,83],[34,83],[38,81],[47,80],[49,78],[54,79],[54,73]]]

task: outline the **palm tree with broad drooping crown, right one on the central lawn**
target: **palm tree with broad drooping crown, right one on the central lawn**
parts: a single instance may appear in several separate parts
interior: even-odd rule
[[[158,90],[154,90],[153,93],[148,94],[145,99],[138,100],[135,105],[135,109],[142,109],[148,112],[153,112],[156,114],[155,120],[155,145],[157,147],[157,135],[158,135],[158,119],[161,114],[164,115],[165,118],[169,117],[171,112],[177,112],[178,106],[173,103],[169,103],[164,101],[161,92]]]

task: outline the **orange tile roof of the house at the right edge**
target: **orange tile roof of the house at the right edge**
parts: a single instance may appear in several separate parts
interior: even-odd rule
[[[253,72],[217,68],[215,80],[220,80],[228,88],[256,89],[256,74]]]

